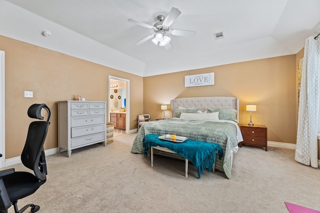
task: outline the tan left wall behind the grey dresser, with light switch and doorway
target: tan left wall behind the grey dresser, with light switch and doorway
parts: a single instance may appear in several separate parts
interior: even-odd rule
[[[42,47],[0,36],[5,51],[5,158],[21,154],[27,127],[26,112],[33,103],[51,110],[51,124],[44,149],[57,147],[57,103],[80,94],[86,100],[108,101],[108,75],[130,80],[130,129],[142,111],[143,79],[140,76],[98,65]],[[33,91],[24,98],[23,91]]]

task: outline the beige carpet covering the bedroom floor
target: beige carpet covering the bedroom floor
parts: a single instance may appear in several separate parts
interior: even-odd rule
[[[47,182],[20,200],[39,213],[288,213],[284,202],[320,210],[320,170],[294,161],[294,150],[243,146],[234,156],[232,179],[184,161],[131,154],[135,134],[114,142],[47,156]],[[16,171],[21,164],[14,165]],[[13,213],[13,208],[9,209]]]

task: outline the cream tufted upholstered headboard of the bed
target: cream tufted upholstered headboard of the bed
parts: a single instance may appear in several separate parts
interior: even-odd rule
[[[207,108],[211,109],[235,109],[236,119],[239,120],[239,99],[236,97],[193,97],[193,98],[176,98],[170,101],[172,117],[174,117],[177,107],[198,108],[204,112]]]

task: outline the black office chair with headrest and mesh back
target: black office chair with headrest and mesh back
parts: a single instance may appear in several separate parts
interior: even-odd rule
[[[22,213],[28,207],[31,207],[32,213],[40,209],[39,206],[29,204],[18,210],[17,200],[33,194],[46,181],[47,170],[43,144],[50,124],[50,109],[45,104],[33,104],[28,109],[28,116],[43,120],[42,108],[48,113],[47,121],[30,123],[21,154],[22,164],[33,170],[34,175],[28,172],[14,172],[14,169],[0,171],[0,212],[7,213],[11,204],[15,213]]]

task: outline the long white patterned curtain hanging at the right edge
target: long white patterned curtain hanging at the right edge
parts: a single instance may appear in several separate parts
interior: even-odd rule
[[[305,40],[299,94],[298,127],[294,159],[318,167],[317,133],[319,132],[320,52],[319,38]]]

